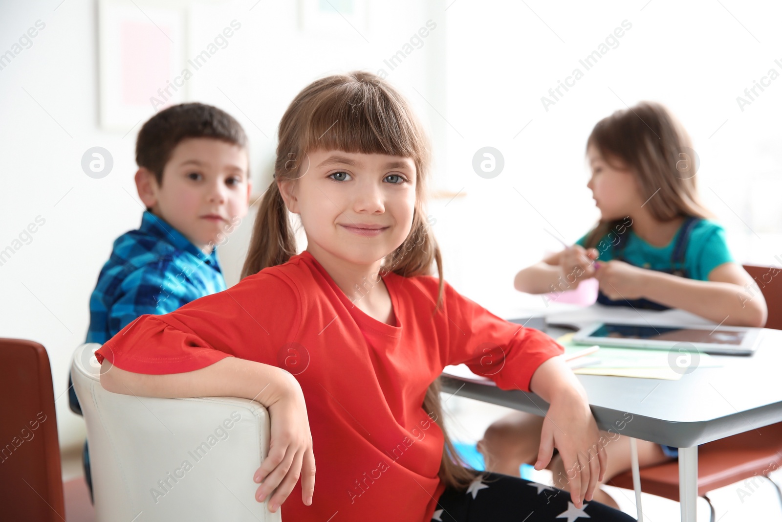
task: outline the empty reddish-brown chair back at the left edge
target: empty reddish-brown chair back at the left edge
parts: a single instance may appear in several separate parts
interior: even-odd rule
[[[41,344],[0,339],[4,520],[65,520],[52,370]]]

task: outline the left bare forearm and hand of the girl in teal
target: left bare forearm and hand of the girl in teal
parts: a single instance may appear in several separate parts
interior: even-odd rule
[[[513,286],[526,293],[576,290],[583,279],[594,275],[592,260],[596,258],[597,250],[587,251],[580,245],[574,245],[519,271]]]

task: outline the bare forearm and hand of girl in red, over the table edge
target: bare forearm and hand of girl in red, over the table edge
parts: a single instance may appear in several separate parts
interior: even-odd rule
[[[550,406],[543,419],[536,470],[543,470],[559,450],[571,484],[570,498],[581,507],[594,497],[603,480],[608,456],[587,401],[587,392],[562,356],[543,362],[533,373],[529,388]]]

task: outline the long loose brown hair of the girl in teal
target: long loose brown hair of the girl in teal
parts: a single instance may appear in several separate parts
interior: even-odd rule
[[[645,204],[655,219],[712,217],[698,197],[697,157],[690,136],[661,104],[640,102],[604,117],[587,139],[587,149],[590,146],[612,167],[633,172],[641,195],[651,198]],[[623,219],[598,221],[587,237],[587,248],[621,227]]]

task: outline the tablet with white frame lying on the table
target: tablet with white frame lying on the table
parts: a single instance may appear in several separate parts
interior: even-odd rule
[[[741,326],[653,326],[595,322],[576,332],[576,344],[669,350],[684,344],[708,354],[751,355],[762,328]]]

